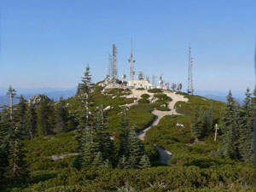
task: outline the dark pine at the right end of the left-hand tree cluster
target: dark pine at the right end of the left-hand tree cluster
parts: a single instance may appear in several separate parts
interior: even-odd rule
[[[67,131],[67,120],[68,110],[63,96],[61,96],[55,107],[55,123],[59,133]]]

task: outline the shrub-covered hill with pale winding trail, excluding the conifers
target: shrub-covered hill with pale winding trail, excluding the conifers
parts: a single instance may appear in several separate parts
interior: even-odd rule
[[[94,84],[90,110],[103,108],[115,151],[119,150],[124,113],[128,127],[136,127],[151,167],[143,169],[91,168],[79,171],[73,161],[79,154],[74,139],[78,122],[69,119],[67,131],[57,128],[47,136],[24,141],[31,173],[24,184],[3,187],[3,191],[234,191],[253,190],[253,165],[223,159],[216,153],[223,138],[214,129],[199,142],[191,135],[195,108],[212,110],[220,123],[226,104],[181,91],[160,89],[108,89]],[[78,116],[83,108],[79,95],[65,100],[68,113]],[[56,105],[58,102],[53,102]]]

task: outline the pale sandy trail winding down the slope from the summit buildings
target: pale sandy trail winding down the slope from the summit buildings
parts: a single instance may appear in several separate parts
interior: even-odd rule
[[[147,92],[147,90],[132,90],[133,95],[137,96],[137,98],[140,98],[141,95],[144,93],[147,93],[148,95],[152,96],[154,94],[150,94]],[[177,113],[176,109],[174,108],[176,102],[188,102],[189,99],[185,98],[182,95],[178,95],[175,92],[171,92],[170,90],[165,90],[163,93],[165,93],[167,96],[170,96],[172,98],[172,102],[168,103],[168,108],[170,111],[159,111],[154,110],[152,113],[154,113],[154,120],[152,121],[151,125],[149,125],[147,128],[143,129],[143,131],[140,131],[137,134],[137,137],[140,140],[145,140],[147,131],[154,125],[158,125],[160,122],[160,119],[165,117],[166,115],[182,115],[180,113]],[[158,150],[160,154],[160,162],[164,164],[168,164],[168,161],[172,159],[172,153],[167,151],[165,148],[161,148],[160,146],[154,144],[154,147]]]

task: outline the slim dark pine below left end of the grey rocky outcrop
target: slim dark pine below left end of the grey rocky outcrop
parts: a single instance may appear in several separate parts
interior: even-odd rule
[[[35,104],[30,102],[26,108],[26,132],[29,139],[33,139],[37,128],[37,113]]]

